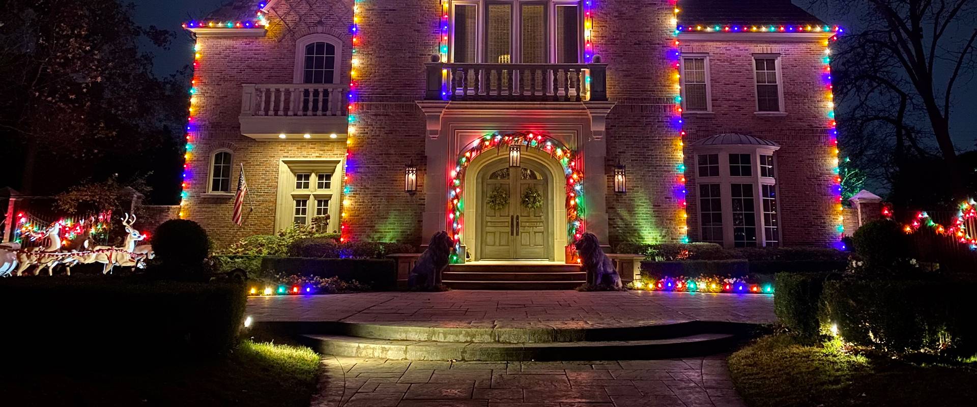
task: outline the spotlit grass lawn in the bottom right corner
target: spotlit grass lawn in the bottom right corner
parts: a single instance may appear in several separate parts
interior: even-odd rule
[[[788,335],[761,338],[729,358],[750,407],[977,406],[977,363],[921,366],[882,356],[801,346]]]

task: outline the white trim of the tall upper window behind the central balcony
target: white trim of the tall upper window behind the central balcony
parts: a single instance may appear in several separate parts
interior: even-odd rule
[[[449,7],[448,12],[448,32],[450,37],[448,39],[448,52],[447,58],[449,61],[454,61],[454,8],[455,6],[475,6],[476,8],[476,30],[475,30],[475,63],[486,63],[486,45],[488,38],[486,37],[486,25],[488,23],[488,5],[489,4],[509,4],[512,6],[512,24],[510,29],[510,44],[509,49],[512,51],[512,61],[513,63],[518,63],[522,60],[522,4],[542,4],[546,6],[546,10],[543,14],[544,21],[546,24],[545,35],[546,35],[546,50],[545,54],[548,58],[547,62],[544,63],[556,63],[556,8],[559,6],[573,6],[577,7],[577,39],[576,39],[576,54],[577,61],[579,63],[583,62],[584,41],[583,41],[583,19],[584,19],[584,7],[583,2],[585,0],[454,0],[451,1],[451,7]],[[519,60],[519,61],[517,61]]]

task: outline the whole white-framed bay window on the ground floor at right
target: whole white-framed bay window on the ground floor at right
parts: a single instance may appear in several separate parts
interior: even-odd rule
[[[726,247],[781,243],[776,142],[725,134],[692,143],[699,240]]]

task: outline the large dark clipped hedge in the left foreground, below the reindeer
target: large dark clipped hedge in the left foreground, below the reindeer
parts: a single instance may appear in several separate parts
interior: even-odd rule
[[[8,355],[55,363],[219,354],[236,345],[245,302],[244,287],[232,284],[103,276],[0,280],[4,325],[26,345]]]

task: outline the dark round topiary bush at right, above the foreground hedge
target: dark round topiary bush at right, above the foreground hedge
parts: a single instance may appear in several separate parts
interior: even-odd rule
[[[852,235],[852,244],[871,268],[891,269],[912,256],[909,237],[899,224],[889,220],[863,224]]]

